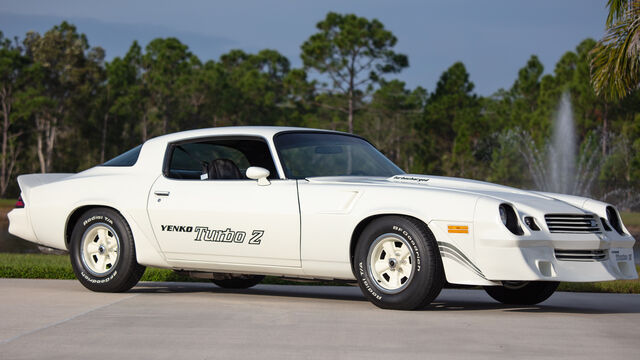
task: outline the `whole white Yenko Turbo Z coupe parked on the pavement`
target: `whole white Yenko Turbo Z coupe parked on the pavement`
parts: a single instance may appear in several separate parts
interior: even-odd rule
[[[415,309],[445,282],[535,304],[559,281],[638,276],[635,240],[609,204],[405,174],[340,132],[184,131],[18,183],[9,232],[68,250],[94,291],[126,291],[154,266],[228,288],[264,275],[357,280],[375,305]]]

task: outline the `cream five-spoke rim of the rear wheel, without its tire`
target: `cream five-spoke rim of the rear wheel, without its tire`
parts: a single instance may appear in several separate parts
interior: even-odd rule
[[[107,224],[93,224],[82,235],[80,258],[94,276],[106,276],[115,270],[119,251],[120,239]]]

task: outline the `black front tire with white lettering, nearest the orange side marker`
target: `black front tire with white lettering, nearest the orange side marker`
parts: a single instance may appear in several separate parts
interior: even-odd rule
[[[403,264],[412,266],[409,277],[400,278],[404,272],[400,272],[400,267],[404,265],[397,265],[397,270],[392,270],[396,268],[391,264],[396,264],[394,256],[398,254],[388,256],[384,252],[376,256],[377,244],[388,239],[392,239],[392,244],[396,244],[394,246],[407,246],[412,251],[410,258],[413,260],[403,261]],[[369,265],[370,258],[389,261],[389,270],[385,274],[398,271],[396,276],[400,279],[396,281],[401,284],[400,287],[385,289],[382,277],[389,281],[388,276],[378,274],[380,280],[376,280],[373,275],[375,270]],[[368,224],[356,244],[353,265],[364,296],[383,309],[413,310],[425,307],[440,294],[445,283],[442,260],[433,233],[421,221],[404,216],[385,216]]]

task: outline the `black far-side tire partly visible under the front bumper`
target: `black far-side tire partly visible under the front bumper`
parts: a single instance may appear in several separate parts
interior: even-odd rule
[[[508,305],[535,305],[547,300],[558,288],[559,282],[531,281],[524,284],[485,286],[484,290],[495,300]]]

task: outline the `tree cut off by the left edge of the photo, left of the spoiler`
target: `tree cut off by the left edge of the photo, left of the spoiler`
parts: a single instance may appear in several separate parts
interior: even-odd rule
[[[18,155],[20,153],[17,137],[20,130],[15,129],[17,116],[12,114],[16,102],[16,92],[23,82],[23,70],[28,65],[28,59],[22,49],[8,39],[4,39],[0,32],[0,111],[2,111],[2,145],[0,147],[0,196],[4,197],[13,176]],[[12,126],[13,125],[13,126]]]

